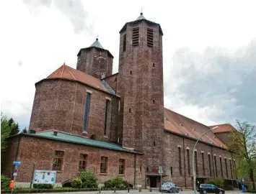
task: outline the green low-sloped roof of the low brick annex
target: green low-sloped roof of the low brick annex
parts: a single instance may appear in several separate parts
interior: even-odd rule
[[[54,131],[54,130],[53,130]],[[35,137],[42,137],[42,138],[50,138],[50,139],[56,139],[59,141],[63,142],[71,142],[71,143],[76,143],[76,144],[84,144],[87,146],[92,146],[92,147],[102,147],[105,149],[113,149],[121,152],[131,152],[131,153],[138,153],[141,154],[140,152],[135,152],[130,149],[125,149],[118,144],[110,143],[110,142],[103,142],[95,139],[88,139],[85,137],[79,137],[71,134],[66,134],[63,132],[58,131],[57,135],[53,134],[53,131],[42,131],[38,132],[36,134],[28,134],[30,136],[35,136]]]

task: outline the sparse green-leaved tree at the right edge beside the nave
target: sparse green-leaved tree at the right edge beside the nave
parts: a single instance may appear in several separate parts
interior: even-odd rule
[[[237,120],[237,131],[229,134],[227,144],[229,150],[238,160],[237,171],[245,172],[250,177],[252,188],[255,190],[254,175],[256,170],[256,127],[246,121]]]

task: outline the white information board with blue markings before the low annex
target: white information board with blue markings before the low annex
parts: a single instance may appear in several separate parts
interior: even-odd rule
[[[35,170],[33,184],[55,184],[56,171]]]

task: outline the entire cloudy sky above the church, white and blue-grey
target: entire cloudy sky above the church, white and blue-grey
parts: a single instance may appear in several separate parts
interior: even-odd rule
[[[35,83],[97,35],[114,55],[119,31],[135,20],[161,24],[164,106],[206,125],[256,124],[256,1],[0,2],[1,112],[28,128]]]

